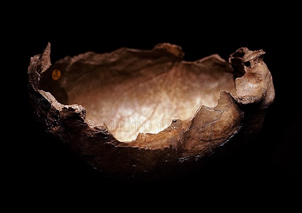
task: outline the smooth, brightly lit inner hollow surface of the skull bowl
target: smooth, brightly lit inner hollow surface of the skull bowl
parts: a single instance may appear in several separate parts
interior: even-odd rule
[[[62,104],[83,105],[87,119],[131,141],[164,130],[173,119],[190,120],[201,105],[215,107],[221,90],[236,94],[233,68],[218,55],[194,62],[182,57],[169,46],[68,56],[42,74],[39,88]]]

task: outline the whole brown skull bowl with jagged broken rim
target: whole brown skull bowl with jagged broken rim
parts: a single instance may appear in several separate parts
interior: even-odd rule
[[[151,180],[199,169],[259,131],[274,100],[262,50],[182,60],[181,48],[31,58],[29,93],[46,131],[105,176]],[[234,67],[234,68],[233,68]]]

